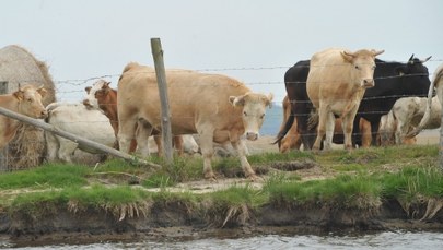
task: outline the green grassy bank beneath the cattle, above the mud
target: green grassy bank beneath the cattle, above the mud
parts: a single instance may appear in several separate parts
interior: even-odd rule
[[[153,160],[162,164],[161,159]],[[65,207],[72,214],[103,211],[121,221],[147,217],[154,207],[174,206],[224,226],[245,223],[264,206],[371,214],[389,199],[398,201],[411,218],[419,214],[432,218],[443,205],[443,171],[438,167],[436,146],[267,153],[253,155],[249,162],[263,177],[258,188],[242,181],[207,193],[195,193],[191,184],[172,191],[203,179],[201,158],[176,158],[173,166],[158,171],[118,159],[95,168],[45,164],[0,175],[0,213],[38,219]],[[220,182],[242,180],[236,158],[217,159],[213,168]],[[418,211],[423,205],[425,211]]]

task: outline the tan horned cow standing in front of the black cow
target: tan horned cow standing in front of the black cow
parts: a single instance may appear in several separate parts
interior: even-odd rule
[[[374,86],[375,57],[382,51],[326,49],[311,58],[307,95],[317,108],[318,129],[313,150],[319,150],[326,133],[325,150],[333,143],[335,116],[342,119],[345,148],[352,148],[353,120],[364,92]]]

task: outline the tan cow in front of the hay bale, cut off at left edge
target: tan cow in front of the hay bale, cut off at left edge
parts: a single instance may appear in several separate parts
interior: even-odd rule
[[[47,111],[42,104],[46,90],[26,85],[12,94],[0,95],[0,107],[32,118],[46,118]],[[0,115],[0,148],[3,148],[15,135],[20,121]]]

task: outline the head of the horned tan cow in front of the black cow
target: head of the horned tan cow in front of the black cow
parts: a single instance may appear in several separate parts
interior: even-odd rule
[[[341,57],[345,61],[351,64],[351,79],[352,81],[363,88],[373,87],[375,57],[383,53],[384,50],[366,50],[361,49],[355,52],[341,51]]]

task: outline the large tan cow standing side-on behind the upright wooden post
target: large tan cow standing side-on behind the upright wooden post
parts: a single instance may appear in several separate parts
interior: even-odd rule
[[[264,122],[265,109],[272,95],[252,93],[241,82],[220,74],[205,74],[189,70],[167,70],[167,92],[173,134],[200,136],[203,174],[214,179],[211,167],[213,142],[230,142],[236,150],[245,176],[256,178],[246,158],[246,145],[241,140],[257,140]],[[127,152],[136,133],[136,123],[144,121],[142,133],[161,129],[161,106],[156,75],[153,68],[138,63],[126,66],[118,82],[118,140],[120,150]],[[140,131],[139,131],[140,133]],[[137,136],[138,145],[140,139]]]

